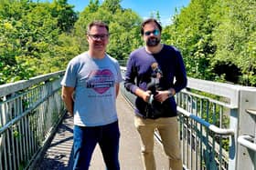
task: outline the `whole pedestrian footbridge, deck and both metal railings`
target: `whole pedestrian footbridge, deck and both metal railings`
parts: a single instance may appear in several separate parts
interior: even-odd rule
[[[0,85],[0,170],[71,168],[73,122],[60,97],[63,75]],[[122,85],[117,109],[124,170],[143,169],[133,102]],[[256,88],[189,78],[176,102],[184,169],[256,169]],[[167,169],[157,131],[155,157],[157,169]],[[104,169],[98,147],[91,169]]]

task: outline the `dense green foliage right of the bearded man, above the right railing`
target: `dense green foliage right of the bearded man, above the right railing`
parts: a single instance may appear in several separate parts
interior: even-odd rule
[[[255,86],[255,16],[255,0],[192,0],[165,27],[165,42],[183,52],[189,76]]]

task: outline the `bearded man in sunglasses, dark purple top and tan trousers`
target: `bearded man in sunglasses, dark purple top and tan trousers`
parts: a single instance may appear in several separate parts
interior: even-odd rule
[[[145,46],[134,50],[126,66],[124,86],[136,95],[134,125],[141,136],[144,169],[155,170],[154,133],[161,136],[169,168],[182,170],[176,101],[187,85],[182,55],[161,44],[162,26],[155,19],[141,25]]]

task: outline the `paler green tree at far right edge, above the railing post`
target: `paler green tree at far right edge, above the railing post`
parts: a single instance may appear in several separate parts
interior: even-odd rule
[[[240,79],[233,83],[256,85],[256,2],[219,1],[218,8],[222,17],[217,18],[219,25],[213,33],[217,45],[213,63],[226,68],[234,65],[240,71]],[[222,74],[226,73],[227,69]]]

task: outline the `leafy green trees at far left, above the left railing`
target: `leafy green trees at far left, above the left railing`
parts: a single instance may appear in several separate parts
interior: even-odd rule
[[[66,3],[0,1],[0,84],[59,70],[59,45],[67,45],[62,42],[61,34],[70,34],[76,16]],[[73,38],[68,34],[67,38],[74,45]],[[62,47],[77,52],[67,46]]]

